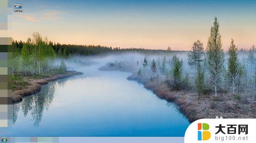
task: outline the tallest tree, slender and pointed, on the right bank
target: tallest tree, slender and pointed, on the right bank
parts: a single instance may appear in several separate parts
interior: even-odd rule
[[[210,29],[206,54],[208,60],[207,68],[211,77],[211,82],[215,85],[215,96],[217,96],[217,87],[222,76],[225,62],[217,17],[215,17],[214,25],[211,26]]]

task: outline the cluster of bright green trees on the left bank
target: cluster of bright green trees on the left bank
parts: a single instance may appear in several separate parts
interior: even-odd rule
[[[62,58],[55,65],[56,52],[47,38],[42,39],[38,33],[27,42],[12,42],[12,74],[14,75],[49,75],[63,73],[67,70]],[[61,56],[62,57],[62,56]]]

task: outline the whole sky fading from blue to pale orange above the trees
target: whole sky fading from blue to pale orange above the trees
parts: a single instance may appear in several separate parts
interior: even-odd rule
[[[9,16],[14,40],[38,32],[62,44],[189,50],[207,45],[217,16],[223,48],[256,45],[256,1],[252,0],[19,0],[23,13]]]

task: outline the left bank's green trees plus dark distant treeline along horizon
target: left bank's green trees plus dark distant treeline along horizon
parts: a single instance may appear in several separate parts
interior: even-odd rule
[[[167,48],[144,49],[144,48],[120,48],[100,45],[72,45],[60,44],[42,38],[39,33],[33,33],[27,41],[12,41],[13,75],[42,75],[66,71],[65,59],[72,55],[98,55],[103,53],[141,52],[141,53],[164,53],[175,52]],[[177,51],[181,52],[181,51]],[[56,60],[58,64],[54,64]]]

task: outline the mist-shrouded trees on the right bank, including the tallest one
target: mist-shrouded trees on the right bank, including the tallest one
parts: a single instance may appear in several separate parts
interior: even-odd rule
[[[239,59],[239,53],[247,54],[246,62]],[[163,56],[163,58],[153,59],[151,62],[145,57],[141,64],[137,61],[137,73],[140,76],[150,75],[150,80],[159,77],[160,74],[165,75],[170,89],[185,90],[195,87],[198,95],[213,92],[217,96],[218,92],[227,91],[231,87],[232,93],[237,93],[239,98],[241,91],[256,88],[255,53],[254,45],[249,50],[241,48],[239,51],[234,40],[231,39],[227,51],[228,58],[225,59],[219,22],[215,17],[206,49],[204,49],[203,43],[197,40],[188,52],[188,65],[195,70],[191,81],[189,81],[191,78],[188,73],[183,71],[183,60],[176,55],[169,60]]]

